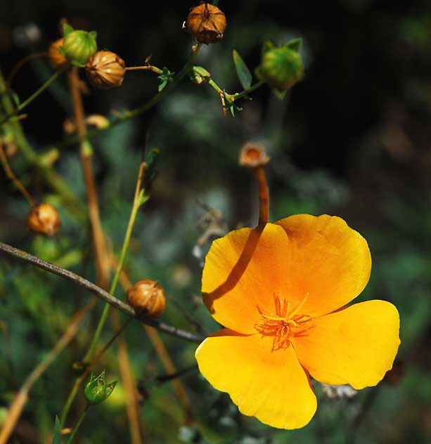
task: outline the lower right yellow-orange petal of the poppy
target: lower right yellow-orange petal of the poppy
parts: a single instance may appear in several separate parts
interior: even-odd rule
[[[386,301],[355,303],[311,322],[292,343],[300,363],[317,381],[375,386],[392,368],[399,346],[397,308]]]

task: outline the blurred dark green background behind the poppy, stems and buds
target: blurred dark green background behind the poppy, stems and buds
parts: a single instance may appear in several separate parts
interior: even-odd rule
[[[185,1],[3,0],[0,67],[5,77],[22,57],[46,51],[58,39],[58,20],[98,32],[99,48],[118,53],[128,66],[153,64],[178,72],[192,40],[181,30]],[[246,141],[267,146],[271,220],[290,214],[336,214],[366,237],[373,256],[364,299],[385,299],[401,315],[401,346],[392,374],[353,398],[330,399],[319,384],[319,407],[298,431],[279,431],[243,417],[229,396],[214,391],[198,372],[181,378],[191,399],[184,413],[141,325],[124,336],[141,396],[146,443],[429,443],[431,442],[431,5],[413,0],[220,1],[228,27],[219,44],[205,46],[196,63],[230,93],[241,91],[232,61],[235,48],[251,68],[266,39],[283,44],[302,37],[304,80],[278,100],[267,86],[224,117],[209,86],[185,79],[152,110],[94,139],[94,169],[105,233],[119,254],[143,148],[159,148],[159,174],[150,201],[139,212],[127,258],[131,280],[153,278],[168,295],[164,320],[184,329],[218,327],[200,301],[201,261],[193,247],[220,214],[220,231],[257,221],[257,193],[249,171],[238,166]],[[12,88],[21,99],[52,73],[45,58],[22,67]],[[84,76],[82,76],[84,79]],[[156,76],[129,72],[122,88],[90,89],[86,113],[114,117],[157,91]],[[27,108],[22,122],[34,150],[60,150],[55,169],[86,202],[76,145],[60,145],[71,104],[65,79]],[[30,210],[0,173],[0,240],[95,279],[89,226],[79,223],[38,171],[16,153],[11,166],[38,201],[58,207],[63,227],[53,238],[29,233]],[[214,212],[214,211],[213,211]],[[210,211],[210,214],[211,211]],[[210,237],[212,240],[214,237]],[[210,242],[202,247],[205,254]],[[121,289],[117,296],[123,297]],[[27,374],[53,347],[77,308],[89,299],[70,282],[0,256],[0,424]],[[47,442],[101,312],[101,303],[77,339],[39,379],[12,443]],[[191,323],[189,317],[195,320]],[[108,325],[103,344],[112,335]],[[195,345],[162,335],[178,369],[195,365]],[[96,370],[120,379],[117,346]],[[283,384],[283,381],[281,381]],[[89,412],[82,443],[129,442],[120,384]],[[286,400],[289,402],[289,400]],[[68,426],[84,406],[80,393]]]

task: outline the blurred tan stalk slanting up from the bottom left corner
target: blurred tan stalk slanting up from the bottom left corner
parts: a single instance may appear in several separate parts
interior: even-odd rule
[[[8,414],[4,420],[4,427],[0,431],[0,444],[8,443],[9,436],[11,436],[11,433],[15,428],[15,424],[18,422],[18,419],[20,419],[22,409],[24,408],[25,403],[27,403],[28,393],[32,389],[34,383],[41,377],[42,374],[44,374],[44,372],[46,372],[46,370],[48,370],[48,368],[51,366],[54,360],[56,360],[60,352],[63,351],[67,344],[69,344],[70,341],[75,337],[77,332],[79,332],[79,322],[82,321],[84,315],[88,313],[93,307],[94,302],[89,303],[84,308],[81,308],[81,310],[75,313],[74,317],[70,321],[70,324],[65,329],[63,336],[58,340],[54,348],[49,352],[48,355],[46,355],[44,360],[42,360],[41,363],[39,363],[39,365],[34,368],[27,379],[25,379],[20,388],[20,391],[18,391],[15,398],[13,399],[11,407],[9,407]]]

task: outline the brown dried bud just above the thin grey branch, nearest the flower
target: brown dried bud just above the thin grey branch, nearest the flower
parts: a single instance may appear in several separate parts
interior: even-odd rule
[[[151,279],[143,279],[127,290],[127,302],[139,315],[159,318],[165,310],[166,296],[163,288]]]

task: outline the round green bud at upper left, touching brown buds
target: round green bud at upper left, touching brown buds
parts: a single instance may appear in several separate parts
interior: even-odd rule
[[[58,51],[75,66],[84,67],[91,55],[97,51],[97,32],[73,30],[70,25],[64,27],[63,45]]]

